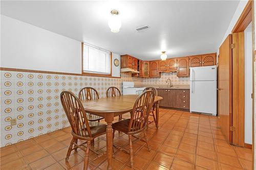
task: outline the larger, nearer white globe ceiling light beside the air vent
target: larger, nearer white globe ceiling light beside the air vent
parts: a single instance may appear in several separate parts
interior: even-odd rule
[[[112,10],[110,13],[111,16],[109,18],[109,27],[111,32],[118,33],[122,25],[119,12],[117,10]]]

